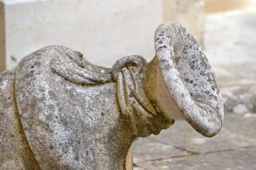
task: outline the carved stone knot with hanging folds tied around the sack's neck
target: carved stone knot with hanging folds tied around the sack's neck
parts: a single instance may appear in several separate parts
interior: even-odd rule
[[[141,137],[159,134],[174,123],[174,120],[165,118],[161,111],[156,111],[143,89],[140,71],[145,64],[143,57],[132,55],[118,60],[113,66],[122,115],[131,122],[134,134]]]

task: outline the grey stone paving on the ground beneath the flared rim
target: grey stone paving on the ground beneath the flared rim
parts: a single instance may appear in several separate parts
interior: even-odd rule
[[[178,120],[157,136],[132,145],[134,170],[256,169],[256,114],[227,114],[223,129],[205,138]]]

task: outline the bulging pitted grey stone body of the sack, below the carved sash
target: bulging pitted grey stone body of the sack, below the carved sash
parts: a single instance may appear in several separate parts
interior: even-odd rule
[[[115,83],[90,87],[65,80],[51,67],[56,50],[65,47],[31,53],[16,72],[20,119],[38,164],[42,169],[120,169],[133,139],[120,121]]]

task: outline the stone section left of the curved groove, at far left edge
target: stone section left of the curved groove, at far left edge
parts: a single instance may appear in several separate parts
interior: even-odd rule
[[[15,70],[0,73],[0,169],[38,169],[15,103]]]

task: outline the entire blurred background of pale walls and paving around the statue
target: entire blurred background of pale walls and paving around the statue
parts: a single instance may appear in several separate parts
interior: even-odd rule
[[[134,169],[256,169],[256,0],[0,0],[0,71],[48,45],[111,67],[155,54],[154,31],[175,21],[200,43],[216,73],[225,124],[214,138],[186,122],[132,145]]]

